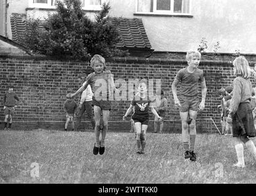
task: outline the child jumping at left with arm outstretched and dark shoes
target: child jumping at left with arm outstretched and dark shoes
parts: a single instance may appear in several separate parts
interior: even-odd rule
[[[85,83],[81,86],[72,97],[84,91],[88,85],[91,85],[93,91],[93,111],[95,115],[95,146],[93,147],[93,154],[104,154],[105,138],[107,135],[107,123],[109,121],[109,113],[111,111],[111,96],[117,91],[114,85],[114,78],[111,71],[106,70],[105,59],[101,55],[94,55],[91,58],[91,67],[95,72],[88,75]],[[101,141],[99,141],[101,113],[103,115],[104,127],[102,130]]]

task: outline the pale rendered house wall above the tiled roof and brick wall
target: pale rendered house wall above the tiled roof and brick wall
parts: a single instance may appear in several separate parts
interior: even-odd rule
[[[2,0],[5,1],[5,0]],[[26,13],[47,16],[45,10],[27,10],[31,0],[8,0],[8,35],[10,13]],[[190,17],[177,15],[134,15],[136,2],[142,0],[108,0],[112,17],[142,18],[152,49],[155,51],[187,51],[195,49],[202,37],[208,41],[208,50],[213,51],[219,41],[222,53],[256,53],[256,1],[255,0],[190,0]],[[145,0],[150,1],[150,0]],[[157,0],[153,0],[157,1]],[[173,0],[171,0],[173,1]],[[0,11],[3,8],[0,5]],[[2,12],[1,12],[2,13]],[[93,13],[88,13],[90,17]],[[0,21],[3,21],[0,14]],[[3,35],[3,27],[0,27]]]

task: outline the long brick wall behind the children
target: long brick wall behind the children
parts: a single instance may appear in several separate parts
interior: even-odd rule
[[[253,68],[254,62],[250,63]],[[173,131],[173,127],[177,127],[175,130],[180,129],[179,111],[174,108],[171,84],[177,71],[185,66],[187,66],[187,62],[180,59],[113,58],[107,60],[107,68],[114,74],[114,80],[123,78],[128,81],[129,78],[134,78],[138,75],[147,76],[149,79],[161,79],[161,88],[165,91],[168,99],[168,115],[166,119],[174,120],[169,122],[168,125],[166,124],[166,131]],[[215,92],[219,88],[232,84],[234,78],[232,75],[233,66],[230,61],[203,60],[200,63],[200,69],[203,69],[206,75],[208,92],[206,108],[198,113],[198,118],[212,118],[219,126],[220,115],[216,107],[220,104],[220,100],[215,96]],[[14,123],[16,127],[23,124],[23,128],[26,129],[26,127],[33,124],[33,121],[42,122],[40,127],[48,126],[49,128],[50,125],[63,127],[65,121],[63,111],[65,96],[68,92],[75,92],[80,87],[77,80],[77,74],[80,71],[90,73],[93,70],[89,62],[0,56],[1,105],[3,105],[3,96],[7,90],[7,85],[12,83],[15,86],[14,91],[21,99],[20,106],[15,110],[14,120],[24,121],[24,123]],[[252,80],[252,83],[254,85],[255,80]],[[78,102],[78,96],[76,101]],[[112,102],[110,121],[121,121],[129,105],[129,101],[114,100]],[[3,121],[2,107],[0,112],[1,121]],[[150,116],[153,119],[153,115],[151,114]],[[32,122],[26,123],[28,121]],[[47,122],[44,123],[44,121]],[[55,121],[58,123],[54,123]],[[61,121],[63,123],[60,123]],[[206,121],[201,122],[205,123]],[[36,127],[39,127],[39,123],[36,124]],[[130,124],[111,123],[110,127],[115,130],[130,129]],[[152,127],[149,130],[152,130]]]

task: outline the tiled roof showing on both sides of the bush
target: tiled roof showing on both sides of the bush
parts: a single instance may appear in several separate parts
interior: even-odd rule
[[[141,18],[112,18],[114,23],[118,23],[122,40],[117,43],[118,48],[150,50],[151,45]],[[12,40],[20,43],[20,37],[25,31],[25,16],[12,13],[10,16],[12,28]]]

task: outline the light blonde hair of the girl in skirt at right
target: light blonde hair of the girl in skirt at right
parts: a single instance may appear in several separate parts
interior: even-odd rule
[[[236,68],[234,74],[239,75],[243,78],[250,78],[250,67],[249,62],[246,60],[244,56],[238,56],[233,61],[233,66]]]

